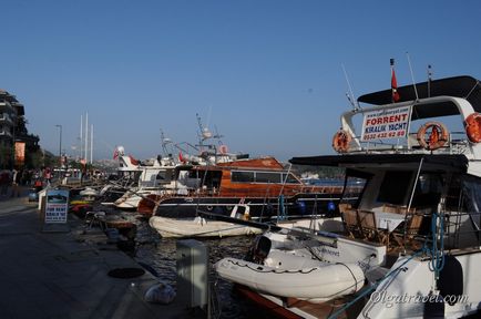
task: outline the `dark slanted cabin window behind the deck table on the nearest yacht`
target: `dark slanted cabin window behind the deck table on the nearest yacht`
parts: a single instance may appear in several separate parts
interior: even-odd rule
[[[379,189],[378,202],[405,205],[407,192],[411,184],[412,173],[403,171],[386,172]]]

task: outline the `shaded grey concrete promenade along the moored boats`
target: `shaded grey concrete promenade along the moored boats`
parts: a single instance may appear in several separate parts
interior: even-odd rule
[[[177,298],[143,300],[157,282],[150,272],[110,277],[140,266],[114,245],[81,240],[82,220],[69,216],[71,231],[42,233],[37,203],[22,195],[0,198],[0,318],[192,318]]]

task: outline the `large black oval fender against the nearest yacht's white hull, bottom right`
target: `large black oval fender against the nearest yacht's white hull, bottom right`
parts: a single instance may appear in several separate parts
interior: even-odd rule
[[[439,272],[438,288],[441,296],[457,296],[448,298],[449,306],[454,306],[463,294],[463,272],[461,263],[452,255],[444,256],[444,267]]]

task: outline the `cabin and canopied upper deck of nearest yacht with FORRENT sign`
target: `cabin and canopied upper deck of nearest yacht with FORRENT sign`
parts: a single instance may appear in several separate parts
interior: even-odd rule
[[[457,76],[398,92],[397,103],[391,90],[360,96],[358,102],[371,105],[341,115],[332,140],[339,155],[290,163],[344,167],[345,195],[348,181],[364,181],[356,204],[339,204],[350,236],[419,249],[426,240],[437,240],[432,234],[442,234],[444,247],[479,247],[479,81]]]

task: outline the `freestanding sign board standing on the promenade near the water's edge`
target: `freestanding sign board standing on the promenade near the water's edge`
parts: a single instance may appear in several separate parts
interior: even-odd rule
[[[45,194],[43,231],[70,231],[66,224],[69,213],[69,191],[48,189]]]

